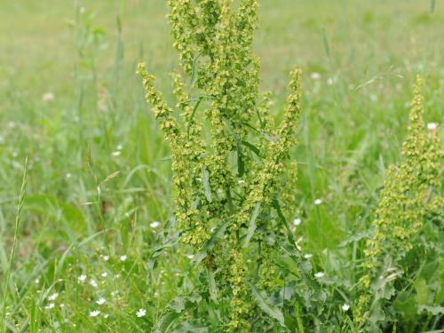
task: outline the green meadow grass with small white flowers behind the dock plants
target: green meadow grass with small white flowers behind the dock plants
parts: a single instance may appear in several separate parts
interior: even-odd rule
[[[430,4],[260,8],[255,47],[277,119],[289,68],[305,73],[292,152],[301,223],[292,227],[313,271],[347,281],[344,289],[360,262],[362,243],[351,237],[368,230],[385,169],[400,159],[416,74],[425,78],[426,123],[442,123],[444,8]],[[171,99],[177,56],[166,13],[162,0],[0,4],[0,281],[11,331],[147,331],[198,279],[189,250],[159,249],[171,237],[170,152],[135,75],[145,60]]]

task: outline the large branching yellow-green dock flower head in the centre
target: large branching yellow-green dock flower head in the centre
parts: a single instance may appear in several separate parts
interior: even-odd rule
[[[228,300],[227,329],[248,331],[258,308],[253,284],[268,285],[274,271],[272,263],[267,272],[258,262],[266,260],[273,240],[286,230],[286,206],[277,185],[295,145],[301,72],[291,73],[283,120],[274,127],[270,95],[259,94],[259,60],[252,52],[258,1],[168,4],[181,67],[173,74],[176,108],[156,90],[145,64],[139,64],[138,73],[170,144],[181,241],[209,270],[218,299]]]

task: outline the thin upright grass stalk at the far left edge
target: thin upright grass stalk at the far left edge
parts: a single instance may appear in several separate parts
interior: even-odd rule
[[[25,159],[25,168],[23,170],[23,178],[21,181],[21,188],[20,188],[20,197],[19,197],[19,204],[17,206],[17,215],[15,217],[15,226],[14,226],[14,239],[12,241],[12,249],[11,249],[11,255],[9,258],[9,265],[8,269],[6,271],[6,277],[4,279],[4,292],[3,292],[3,305],[2,305],[2,316],[0,317],[0,328],[1,331],[5,331],[5,316],[6,316],[6,298],[8,296],[8,286],[9,286],[9,280],[11,278],[11,271],[12,271],[12,262],[15,256],[15,250],[17,248],[18,238],[19,238],[19,226],[20,226],[20,219],[21,219],[21,212],[23,210],[23,204],[25,203],[25,194],[26,194],[26,186],[27,186],[27,174],[28,174],[28,156]]]

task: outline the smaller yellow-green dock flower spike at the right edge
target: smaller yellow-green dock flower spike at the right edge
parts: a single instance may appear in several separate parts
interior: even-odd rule
[[[423,79],[416,78],[414,98],[409,115],[408,138],[402,147],[403,163],[390,166],[373,221],[375,233],[366,243],[361,277],[361,296],[353,313],[359,325],[369,321],[372,307],[377,305],[374,283],[389,275],[389,283],[398,276],[400,260],[415,246],[413,238],[427,217],[442,213],[440,175],[443,152],[439,131],[424,130]]]

